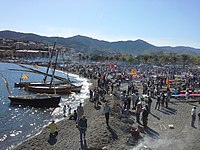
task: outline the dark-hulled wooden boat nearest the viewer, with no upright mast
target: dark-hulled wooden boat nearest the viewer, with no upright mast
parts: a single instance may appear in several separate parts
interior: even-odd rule
[[[8,96],[11,105],[25,105],[32,107],[58,107],[61,96],[56,94],[35,94],[23,96]]]

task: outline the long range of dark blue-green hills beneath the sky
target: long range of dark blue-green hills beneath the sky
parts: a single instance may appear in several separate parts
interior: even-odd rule
[[[195,49],[192,47],[184,47],[184,46],[158,47],[149,44],[143,40],[108,42],[81,35],[69,38],[46,37],[32,33],[20,33],[20,32],[5,30],[5,31],[0,31],[0,38],[25,40],[25,41],[30,40],[49,45],[53,45],[54,42],[56,41],[57,45],[74,48],[77,51],[84,52],[86,54],[124,53],[124,54],[139,55],[139,54],[150,54],[156,52],[164,52],[164,53],[174,52],[179,54],[193,54],[193,55],[200,54],[200,49]]]

